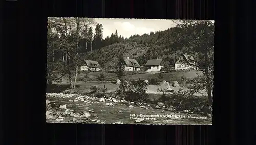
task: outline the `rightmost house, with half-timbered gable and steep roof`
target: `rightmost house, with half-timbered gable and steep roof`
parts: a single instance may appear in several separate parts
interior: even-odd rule
[[[175,63],[175,70],[198,70],[196,60],[186,53],[182,53]]]

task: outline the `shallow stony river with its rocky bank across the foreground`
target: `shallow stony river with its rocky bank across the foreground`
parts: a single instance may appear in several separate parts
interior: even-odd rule
[[[99,124],[211,124],[211,117],[193,114],[189,110],[175,112],[172,107],[166,110],[162,102],[137,103],[115,99],[114,96],[97,98],[79,94],[48,93],[46,121]]]

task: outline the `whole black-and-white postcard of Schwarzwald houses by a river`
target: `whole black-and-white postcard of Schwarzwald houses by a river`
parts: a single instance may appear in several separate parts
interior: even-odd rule
[[[46,122],[212,125],[214,21],[48,17]]]

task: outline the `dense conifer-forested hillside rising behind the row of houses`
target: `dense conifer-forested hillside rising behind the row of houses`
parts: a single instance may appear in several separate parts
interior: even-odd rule
[[[189,24],[183,24],[165,31],[151,32],[141,36],[134,35],[118,42],[112,41],[114,43],[109,43],[109,45],[107,40],[103,40],[105,46],[87,52],[84,57],[98,61],[104,68],[114,68],[117,58],[120,56],[137,59],[141,65],[144,65],[148,59],[162,58],[168,65],[167,67],[170,67],[175,64],[181,53],[187,53],[200,63],[202,57],[198,53],[201,53],[199,47],[204,47],[205,38],[203,38],[201,30],[204,27],[204,23],[196,28],[189,27]],[[190,30],[187,30],[188,28]],[[213,41],[214,27],[211,25],[208,28],[211,35],[207,34],[207,37],[211,37],[209,39]],[[213,47],[213,42],[211,43],[211,47]]]

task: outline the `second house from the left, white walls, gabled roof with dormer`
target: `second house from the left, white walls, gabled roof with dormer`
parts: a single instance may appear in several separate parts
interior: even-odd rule
[[[117,68],[121,66],[124,71],[140,71],[141,66],[135,59],[129,59],[129,57],[123,57],[121,61],[118,62]]]

